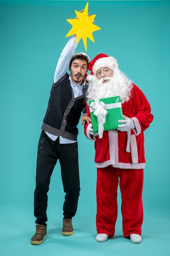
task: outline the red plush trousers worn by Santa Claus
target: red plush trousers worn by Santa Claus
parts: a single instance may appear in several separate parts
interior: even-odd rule
[[[121,191],[121,214],[124,237],[141,235],[143,222],[142,189],[144,170],[97,168],[97,233],[110,238],[115,234],[117,220],[117,187]]]

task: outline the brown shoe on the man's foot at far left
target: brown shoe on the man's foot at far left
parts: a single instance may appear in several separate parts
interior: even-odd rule
[[[35,235],[31,238],[31,245],[42,244],[44,238],[46,238],[46,227],[44,225],[36,225]]]

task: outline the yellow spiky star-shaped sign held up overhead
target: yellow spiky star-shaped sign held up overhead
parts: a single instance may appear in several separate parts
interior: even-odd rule
[[[80,38],[82,38],[84,47],[87,52],[87,37],[93,43],[95,43],[92,33],[93,31],[99,30],[101,28],[93,24],[93,20],[95,19],[96,14],[91,16],[88,15],[88,2],[83,12],[75,11],[75,13],[77,18],[67,20],[72,25],[72,28],[68,32],[66,37],[76,34],[77,35],[76,43],[78,43]]]

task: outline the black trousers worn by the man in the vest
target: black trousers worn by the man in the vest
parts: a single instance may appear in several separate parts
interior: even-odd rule
[[[34,216],[37,224],[46,225],[47,193],[57,159],[60,161],[62,183],[66,193],[63,215],[65,218],[72,218],[77,211],[80,191],[77,142],[60,144],[59,137],[53,141],[42,131],[38,144],[34,191]]]

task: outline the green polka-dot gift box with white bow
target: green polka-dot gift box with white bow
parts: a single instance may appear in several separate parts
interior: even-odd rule
[[[120,96],[89,101],[93,132],[102,138],[104,130],[116,130],[124,119]]]

